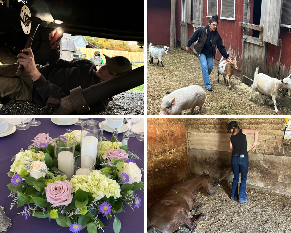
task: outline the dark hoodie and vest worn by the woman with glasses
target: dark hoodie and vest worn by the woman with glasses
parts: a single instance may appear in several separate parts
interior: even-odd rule
[[[217,46],[221,55],[226,59],[229,58],[229,54],[226,52],[225,47],[222,44],[222,39],[219,32],[215,30],[210,34],[208,24],[203,27],[198,27],[198,29],[188,40],[187,46],[190,47],[196,40],[198,40],[198,42],[194,45],[194,49],[197,54],[200,55],[200,53],[203,53],[205,56],[213,54],[215,57],[215,47]]]

